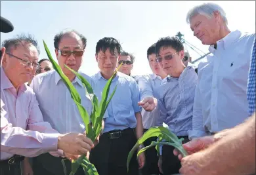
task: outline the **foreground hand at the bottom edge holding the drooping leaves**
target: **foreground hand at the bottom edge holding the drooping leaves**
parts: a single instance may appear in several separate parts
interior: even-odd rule
[[[216,170],[211,168],[210,161],[205,159],[204,151],[188,155],[181,159],[181,169],[179,172],[182,175],[213,175]]]

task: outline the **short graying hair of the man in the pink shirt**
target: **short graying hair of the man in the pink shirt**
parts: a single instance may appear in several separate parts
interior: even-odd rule
[[[6,52],[11,52],[12,47],[16,49],[19,45],[24,46],[24,43],[30,43],[31,45],[33,45],[37,49],[38,54],[40,54],[39,45],[30,34],[25,35],[22,33],[20,35],[16,35],[16,37],[13,37],[11,39],[6,39],[2,42],[2,47],[5,47]]]

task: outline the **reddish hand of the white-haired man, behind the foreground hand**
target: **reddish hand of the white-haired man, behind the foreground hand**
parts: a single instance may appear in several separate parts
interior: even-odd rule
[[[202,138],[195,138],[186,144],[183,144],[184,149],[188,152],[188,154],[196,153],[202,149],[205,149],[209,145],[215,142],[215,138],[213,136],[205,136]],[[173,150],[173,154],[177,155],[179,159],[182,159],[181,153],[178,149]]]

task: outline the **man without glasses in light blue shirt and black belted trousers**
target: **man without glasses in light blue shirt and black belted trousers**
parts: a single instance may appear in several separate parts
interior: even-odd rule
[[[93,75],[95,92],[102,93],[108,79],[116,70],[121,45],[112,37],[104,37],[96,44],[96,61],[100,71]],[[100,142],[90,153],[90,161],[100,175],[136,175],[137,155],[133,156],[127,173],[126,161],[129,151],[143,134],[138,102],[139,87],[132,77],[117,72],[110,86],[110,94],[116,88],[104,119],[104,130]],[[141,148],[141,147],[140,147]],[[144,153],[138,159],[139,168],[144,165]]]

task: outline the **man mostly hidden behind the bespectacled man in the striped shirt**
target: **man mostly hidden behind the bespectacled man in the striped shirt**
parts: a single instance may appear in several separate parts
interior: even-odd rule
[[[140,88],[140,95],[142,102],[146,102],[146,100],[152,100],[153,102],[157,102],[158,94],[156,90],[161,86],[161,81],[167,74],[160,68],[158,63],[156,62],[156,44],[150,46],[147,50],[147,58],[148,64],[153,73],[148,75],[142,75],[138,79],[138,85]],[[142,104],[140,102],[139,104]],[[153,104],[155,105],[155,104]],[[143,108],[145,107],[145,109]],[[144,128],[144,132],[146,132],[150,127],[156,126],[156,119],[160,115],[160,111],[158,107],[155,107],[152,110],[147,104],[142,105],[142,124]],[[156,138],[148,138],[144,142],[144,146],[149,146],[152,141],[156,141]],[[158,168],[158,156],[155,147],[146,150],[146,163],[142,168],[141,172],[143,175],[148,174],[160,174]]]

